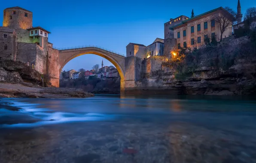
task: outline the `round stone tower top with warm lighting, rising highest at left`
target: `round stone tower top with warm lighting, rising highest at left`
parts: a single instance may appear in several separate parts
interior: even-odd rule
[[[3,27],[27,30],[32,28],[32,12],[21,7],[10,7],[3,10]]]

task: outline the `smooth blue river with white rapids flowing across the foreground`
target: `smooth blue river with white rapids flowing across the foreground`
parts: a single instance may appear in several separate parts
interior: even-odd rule
[[[253,98],[98,95],[0,103],[0,163],[256,163]]]

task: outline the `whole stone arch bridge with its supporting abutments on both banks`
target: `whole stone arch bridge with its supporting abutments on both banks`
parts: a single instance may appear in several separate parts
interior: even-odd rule
[[[54,69],[54,73],[49,74],[50,81],[54,86],[59,87],[59,75],[61,69],[73,58],[78,57],[84,54],[95,54],[101,57],[106,58],[114,66],[119,72],[121,77],[121,94],[125,93],[125,88],[134,87],[135,81],[135,57],[125,57],[124,55],[116,54],[113,51],[108,51],[103,48],[95,47],[95,46],[88,46],[82,48],[70,48],[64,50],[58,50],[58,60],[55,60],[53,64],[55,64],[57,69]],[[138,60],[138,58],[137,58]],[[58,66],[56,64],[58,62]],[[51,64],[49,64],[51,65]],[[51,70],[52,66],[49,66],[49,70]],[[52,69],[53,70],[53,69]],[[52,72],[52,71],[51,71]]]

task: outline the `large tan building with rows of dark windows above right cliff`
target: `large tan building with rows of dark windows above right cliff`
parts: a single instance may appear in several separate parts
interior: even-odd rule
[[[220,40],[221,32],[219,23],[216,21],[216,15],[225,15],[230,21],[235,19],[229,12],[222,7],[205,12],[201,15],[181,21],[173,27],[174,38],[177,39],[177,48],[180,47],[198,47],[204,44],[206,37],[212,39],[213,36],[217,41]],[[222,34],[223,38],[232,36],[232,24]]]

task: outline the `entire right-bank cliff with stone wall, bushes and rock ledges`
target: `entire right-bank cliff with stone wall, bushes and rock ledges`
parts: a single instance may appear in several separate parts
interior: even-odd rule
[[[248,39],[231,40],[209,53],[193,51],[188,55],[192,59],[176,66],[166,64],[170,63],[167,57],[147,58],[142,64],[143,78],[127,94],[255,95],[255,48],[247,49],[250,43],[244,40]]]

